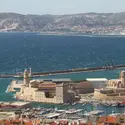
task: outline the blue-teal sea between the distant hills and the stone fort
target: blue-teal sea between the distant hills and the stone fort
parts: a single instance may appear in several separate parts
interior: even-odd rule
[[[63,36],[39,33],[0,33],[0,73],[55,71],[125,64],[125,36]],[[121,70],[83,72],[41,78],[118,78]],[[15,101],[6,93],[13,78],[0,79],[0,101]],[[52,105],[47,105],[52,106]],[[78,106],[79,107],[79,106]],[[90,106],[89,106],[90,107]],[[122,109],[118,109],[120,112]],[[111,110],[110,110],[111,111]]]

